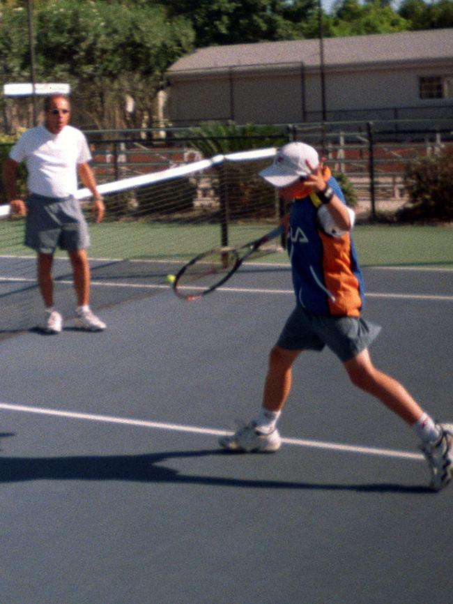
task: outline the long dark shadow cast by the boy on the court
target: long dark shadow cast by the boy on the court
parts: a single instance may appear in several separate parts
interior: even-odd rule
[[[141,483],[178,483],[253,489],[326,490],[359,492],[395,492],[407,494],[431,493],[424,486],[405,486],[389,483],[331,484],[296,481],[254,480],[251,478],[223,478],[201,474],[183,474],[177,469],[161,465],[172,459],[191,459],[199,469],[201,458],[238,453],[218,450],[171,451],[144,455],[86,455],[55,458],[10,458],[0,455],[0,483],[37,480],[80,481],[136,481]]]

